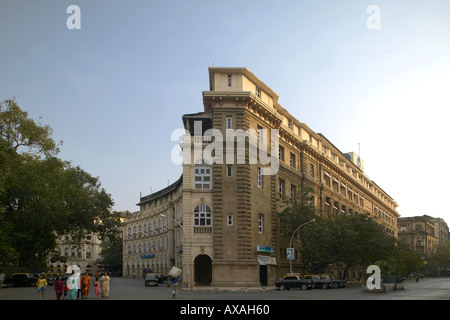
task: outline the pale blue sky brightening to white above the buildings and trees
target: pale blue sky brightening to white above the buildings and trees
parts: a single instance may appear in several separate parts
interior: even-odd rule
[[[115,210],[180,177],[171,133],[203,111],[213,63],[247,67],[342,152],[360,145],[402,216],[450,223],[450,1],[0,2],[0,100],[42,117]]]

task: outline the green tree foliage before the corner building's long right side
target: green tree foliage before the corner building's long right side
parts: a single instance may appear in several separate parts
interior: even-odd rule
[[[399,245],[386,235],[380,225],[368,215],[338,215],[321,218],[309,205],[309,190],[299,203],[286,204],[280,214],[283,227],[292,230],[305,221],[315,218],[315,223],[302,228],[297,244],[303,265],[308,272],[323,272],[329,264],[344,263],[345,272],[350,267],[366,267],[383,262],[384,272],[405,274],[415,270],[420,259],[412,250]],[[344,274],[345,274],[344,272]]]

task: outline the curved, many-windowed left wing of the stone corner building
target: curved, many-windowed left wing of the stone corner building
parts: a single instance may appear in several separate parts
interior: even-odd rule
[[[139,211],[124,221],[124,277],[141,278],[149,270],[167,274],[172,266],[182,269],[182,177],[154,194],[140,198]],[[171,220],[174,219],[175,221]]]

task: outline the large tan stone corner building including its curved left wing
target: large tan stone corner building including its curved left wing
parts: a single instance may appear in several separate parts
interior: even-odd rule
[[[204,110],[182,117],[182,177],[141,198],[125,227],[124,275],[177,265],[185,286],[273,284],[289,271],[278,199],[295,199],[304,187],[320,214],[369,214],[397,236],[398,204],[364,174],[356,154],[292,116],[246,68],[209,68],[209,84]]]

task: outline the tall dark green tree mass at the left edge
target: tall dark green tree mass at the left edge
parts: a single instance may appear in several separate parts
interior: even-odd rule
[[[55,156],[49,126],[12,100],[0,106],[0,264],[44,265],[57,235],[114,236],[120,218],[99,179]]]

